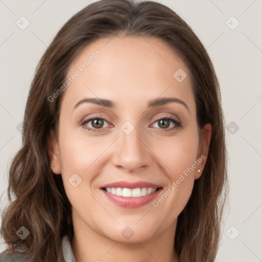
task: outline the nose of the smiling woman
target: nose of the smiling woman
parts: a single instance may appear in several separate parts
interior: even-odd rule
[[[142,138],[136,127],[129,135],[119,130],[119,138],[115,143],[115,151],[112,156],[113,164],[130,173],[139,172],[148,168],[152,163],[153,153],[146,139]]]

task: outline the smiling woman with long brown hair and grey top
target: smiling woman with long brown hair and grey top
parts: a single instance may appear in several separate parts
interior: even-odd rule
[[[226,158],[219,83],[185,21],[92,3],[38,64],[0,261],[214,261]]]

